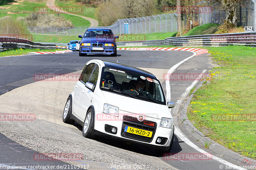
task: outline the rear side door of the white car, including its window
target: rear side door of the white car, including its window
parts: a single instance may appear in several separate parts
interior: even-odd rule
[[[76,116],[77,116],[78,102],[79,102],[82,90],[85,87],[84,82],[89,80],[94,67],[95,67],[95,63],[85,65],[85,67],[84,67],[85,69],[82,71],[82,77],[79,78],[79,80],[75,84],[72,111],[73,111],[73,114]]]

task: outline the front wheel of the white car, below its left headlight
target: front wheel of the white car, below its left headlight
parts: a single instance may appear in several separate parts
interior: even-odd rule
[[[92,108],[90,108],[85,116],[84,119],[84,126],[83,126],[83,137],[87,137],[87,138],[94,138],[94,134],[93,134],[93,128],[94,128],[94,115],[93,115],[93,111]]]

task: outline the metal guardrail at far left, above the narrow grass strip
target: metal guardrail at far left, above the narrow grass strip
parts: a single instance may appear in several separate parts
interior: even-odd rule
[[[9,48],[38,48],[38,49],[55,49],[55,44],[40,44],[26,39],[15,37],[0,37],[0,51]]]

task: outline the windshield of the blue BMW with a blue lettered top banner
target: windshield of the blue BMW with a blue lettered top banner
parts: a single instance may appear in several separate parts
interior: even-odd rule
[[[84,33],[84,37],[107,37],[114,38],[111,30],[107,29],[88,29]]]

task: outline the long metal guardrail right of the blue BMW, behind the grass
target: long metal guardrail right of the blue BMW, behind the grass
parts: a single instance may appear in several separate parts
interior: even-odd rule
[[[256,47],[256,32],[170,37],[164,40],[117,42],[117,46],[173,45],[180,47],[245,45]]]

